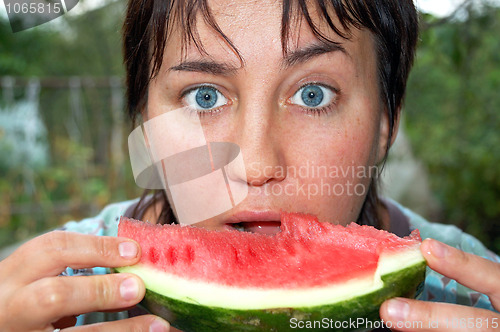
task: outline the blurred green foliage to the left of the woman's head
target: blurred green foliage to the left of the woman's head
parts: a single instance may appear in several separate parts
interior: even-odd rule
[[[13,166],[9,161],[19,147],[5,143],[0,126],[0,247],[140,195],[127,157],[130,124],[123,105],[114,106],[120,116],[112,105],[111,80],[123,96],[116,80],[123,77],[123,7],[123,2],[110,2],[19,33],[0,19],[0,76],[46,79],[38,113],[49,154],[43,167]],[[75,77],[81,86],[72,89]],[[14,87],[14,104],[26,98],[25,83]],[[4,97],[0,93],[0,109],[10,106]],[[116,131],[122,136],[120,151],[112,146]]]

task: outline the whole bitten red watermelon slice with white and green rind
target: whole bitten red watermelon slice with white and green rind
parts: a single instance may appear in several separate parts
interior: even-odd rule
[[[271,236],[122,217],[118,236],[142,248],[137,265],[118,271],[139,275],[142,304],[183,331],[360,329],[342,322],[377,320],[384,300],[414,295],[425,274],[418,230],[399,238],[302,214],[282,213]]]

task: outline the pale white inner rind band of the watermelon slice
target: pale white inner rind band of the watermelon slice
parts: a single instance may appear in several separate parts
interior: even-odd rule
[[[353,279],[332,286],[263,289],[225,286],[198,280],[181,278],[145,264],[120,268],[144,280],[146,288],[161,295],[203,306],[232,309],[271,309],[312,307],[349,300],[381,289],[381,276],[409,268],[424,261],[419,247],[380,256],[373,277]]]

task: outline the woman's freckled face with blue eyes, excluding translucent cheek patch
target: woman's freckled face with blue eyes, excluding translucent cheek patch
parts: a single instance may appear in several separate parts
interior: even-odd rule
[[[191,43],[182,57],[174,33],[147,106],[148,118],[165,108],[197,109],[208,141],[241,148],[247,198],[199,226],[243,222],[248,231],[274,232],[280,210],[355,221],[388,137],[371,34],[352,29],[352,38],[342,39],[316,19],[341,46],[333,47],[303,21],[292,24],[284,56],[279,1],[213,1],[210,7],[243,63],[200,17],[206,54]]]

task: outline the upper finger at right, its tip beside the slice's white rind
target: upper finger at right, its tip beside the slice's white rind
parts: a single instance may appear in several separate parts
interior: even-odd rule
[[[431,269],[488,295],[493,306],[500,308],[500,264],[432,239],[422,242],[420,250]]]

